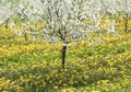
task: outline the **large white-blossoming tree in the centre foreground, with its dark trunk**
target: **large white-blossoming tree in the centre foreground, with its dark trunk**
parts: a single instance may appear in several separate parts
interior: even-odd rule
[[[79,2],[80,1],[80,2]],[[64,69],[67,45],[75,39],[81,39],[85,27],[82,20],[81,0],[45,0],[45,25],[44,34],[47,41],[63,43],[62,68]],[[81,5],[82,7],[82,5]],[[84,7],[84,5],[83,5]],[[81,11],[80,11],[81,10]]]

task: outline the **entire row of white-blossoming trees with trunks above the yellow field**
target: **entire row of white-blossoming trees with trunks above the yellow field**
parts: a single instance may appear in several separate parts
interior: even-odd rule
[[[67,44],[85,38],[87,33],[103,31],[100,21],[105,16],[120,15],[124,19],[124,31],[128,31],[128,20],[131,14],[131,0],[1,0],[0,24],[8,28],[20,24],[23,27],[25,41],[27,34],[44,35],[48,42],[63,43],[62,68]],[[86,21],[90,20],[90,24]],[[109,19],[111,20],[111,19]],[[36,22],[37,21],[37,22]],[[114,20],[111,20],[114,21]],[[45,27],[26,26],[36,22]],[[114,26],[114,23],[111,23]],[[114,28],[110,30],[110,32]],[[15,31],[14,31],[15,32]]]

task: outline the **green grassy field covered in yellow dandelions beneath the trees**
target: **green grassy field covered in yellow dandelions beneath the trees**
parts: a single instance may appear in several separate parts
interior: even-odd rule
[[[117,33],[70,43],[64,71],[61,43],[31,35],[24,42],[0,26],[0,92],[131,92],[131,33],[116,26]]]

